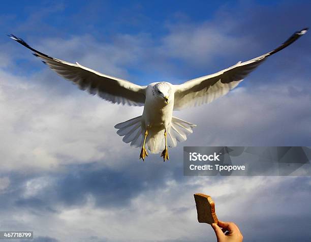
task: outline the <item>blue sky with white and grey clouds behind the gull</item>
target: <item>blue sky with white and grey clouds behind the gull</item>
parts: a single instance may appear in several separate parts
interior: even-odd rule
[[[244,241],[310,241],[311,179],[183,176],[183,146],[311,146],[311,35],[228,95],[174,115],[188,139],[139,161],[114,125],[142,107],[81,92],[9,39],[147,85],[180,84],[266,53],[311,25],[309,1],[14,1],[0,10],[0,230],[33,241],[216,241],[194,193]]]

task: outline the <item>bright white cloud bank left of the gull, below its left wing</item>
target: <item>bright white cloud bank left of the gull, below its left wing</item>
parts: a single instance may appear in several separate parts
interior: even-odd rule
[[[44,86],[5,72],[0,78],[4,170],[53,169],[59,164],[106,160],[113,153],[119,158],[122,142],[113,127],[141,111],[85,93],[51,96]]]

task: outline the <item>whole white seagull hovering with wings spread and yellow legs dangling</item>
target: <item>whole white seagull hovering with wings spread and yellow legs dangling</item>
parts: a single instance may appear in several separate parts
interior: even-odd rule
[[[295,32],[276,49],[246,62],[238,62],[232,67],[202,76],[183,84],[173,85],[166,81],[153,82],[140,86],[130,81],[108,76],[76,64],[62,61],[44,54],[25,41],[9,37],[33,51],[44,64],[60,76],[72,81],[81,90],[116,104],[144,106],[141,116],[115,125],[117,134],[124,136],[125,143],[141,147],[139,159],[145,160],[147,149],[152,154],[161,153],[163,161],[169,160],[168,147],[175,147],[193,133],[195,124],[173,116],[173,110],[208,104],[226,95],[236,87],[250,72],[262,64],[266,58],[286,48],[307,32],[308,28]]]

